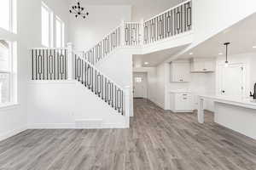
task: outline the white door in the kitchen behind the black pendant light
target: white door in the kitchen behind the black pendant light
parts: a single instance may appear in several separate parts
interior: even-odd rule
[[[244,94],[244,66],[229,65],[221,67],[220,93],[225,96],[241,97]]]

